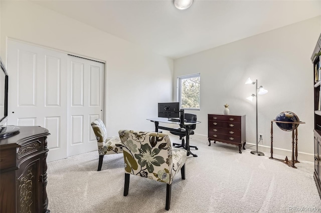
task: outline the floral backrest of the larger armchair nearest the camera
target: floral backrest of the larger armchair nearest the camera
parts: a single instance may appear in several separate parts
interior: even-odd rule
[[[173,158],[168,134],[119,130],[125,172],[171,184]],[[177,165],[174,165],[177,166]]]

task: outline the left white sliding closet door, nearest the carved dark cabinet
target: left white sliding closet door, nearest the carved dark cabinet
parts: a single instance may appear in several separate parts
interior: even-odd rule
[[[67,157],[67,57],[8,40],[8,124],[49,129],[48,161]]]

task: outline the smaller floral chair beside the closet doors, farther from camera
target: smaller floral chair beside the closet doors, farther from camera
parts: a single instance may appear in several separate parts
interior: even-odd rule
[[[100,171],[105,154],[122,153],[122,144],[119,136],[107,137],[106,126],[101,119],[97,118],[94,121],[92,121],[91,127],[94,130],[97,139],[99,153],[97,171]]]

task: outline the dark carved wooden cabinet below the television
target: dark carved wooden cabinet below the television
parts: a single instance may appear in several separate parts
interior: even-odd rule
[[[47,136],[40,126],[19,126],[0,137],[0,212],[50,212],[47,197]]]

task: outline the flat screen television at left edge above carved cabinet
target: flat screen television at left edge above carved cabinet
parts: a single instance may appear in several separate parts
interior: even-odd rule
[[[0,126],[2,126],[8,116],[8,73],[1,58],[0,66]]]

